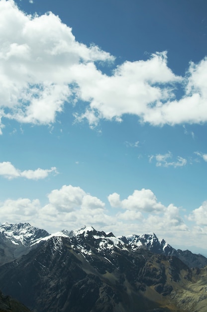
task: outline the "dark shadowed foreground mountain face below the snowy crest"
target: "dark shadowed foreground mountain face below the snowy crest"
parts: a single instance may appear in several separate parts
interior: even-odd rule
[[[175,267],[165,256],[148,251],[131,253],[112,244],[98,251],[94,245],[98,246],[101,239],[82,236],[78,240],[53,237],[18,262],[1,266],[2,291],[38,312],[144,312],[159,307],[145,297],[150,287],[158,288],[152,291],[156,300],[172,291],[162,262],[168,265],[173,281],[179,281],[181,269],[190,275],[181,261]]]

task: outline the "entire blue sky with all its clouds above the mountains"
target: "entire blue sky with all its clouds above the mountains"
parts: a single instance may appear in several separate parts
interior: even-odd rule
[[[207,255],[207,1],[0,0],[0,222]]]

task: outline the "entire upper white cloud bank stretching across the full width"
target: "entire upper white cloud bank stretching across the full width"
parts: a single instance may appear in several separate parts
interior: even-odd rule
[[[100,119],[121,121],[136,115],[151,125],[207,121],[207,58],[190,63],[185,77],[167,64],[167,53],[126,61],[111,75],[96,66],[114,57],[96,45],[78,42],[58,16],[28,15],[13,0],[0,0],[0,117],[21,123],[50,124],[66,103],[77,121],[96,126]],[[176,99],[176,89],[183,97]],[[1,128],[3,125],[1,125]]]

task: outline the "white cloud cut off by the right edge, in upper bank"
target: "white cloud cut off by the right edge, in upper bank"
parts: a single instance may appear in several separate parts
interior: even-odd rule
[[[202,123],[207,121],[207,57],[200,63],[190,63],[185,77],[185,94],[182,99],[168,101],[149,111],[144,117],[152,124]],[[157,114],[157,118],[153,118]]]

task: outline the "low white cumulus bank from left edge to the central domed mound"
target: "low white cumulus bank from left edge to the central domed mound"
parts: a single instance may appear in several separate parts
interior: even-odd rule
[[[28,198],[0,202],[1,222],[27,221],[51,232],[76,229],[84,224],[100,229],[115,222],[108,215],[105,204],[80,187],[63,185],[52,190],[47,197],[48,203],[44,206],[38,199]]]

